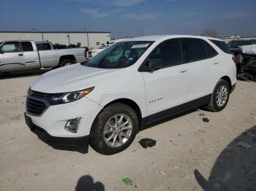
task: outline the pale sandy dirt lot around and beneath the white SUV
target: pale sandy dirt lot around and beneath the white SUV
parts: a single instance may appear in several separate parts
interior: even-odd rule
[[[33,74],[0,77],[0,190],[256,190],[255,82],[238,81],[222,112],[194,109],[104,156],[91,148],[86,155],[53,149],[30,132],[26,90],[41,72]],[[157,144],[143,149],[142,138]],[[133,184],[124,184],[125,177]]]

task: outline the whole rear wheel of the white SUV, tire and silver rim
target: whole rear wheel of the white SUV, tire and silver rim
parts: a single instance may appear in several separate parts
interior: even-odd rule
[[[217,85],[214,87],[214,92],[211,94],[211,102],[208,104],[207,109],[211,110],[212,112],[222,111],[222,109],[224,109],[227,105],[229,97],[230,85],[228,85],[226,80],[220,79],[219,82],[217,82]]]

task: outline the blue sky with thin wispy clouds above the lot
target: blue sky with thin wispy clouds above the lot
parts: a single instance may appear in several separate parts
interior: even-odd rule
[[[255,0],[1,0],[0,31],[256,36]]]

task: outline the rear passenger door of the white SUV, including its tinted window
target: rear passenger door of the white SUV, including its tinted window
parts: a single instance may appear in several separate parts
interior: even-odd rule
[[[189,87],[191,99],[211,94],[219,76],[217,51],[203,39],[184,38],[181,44],[184,62],[189,66],[192,77],[192,85]]]

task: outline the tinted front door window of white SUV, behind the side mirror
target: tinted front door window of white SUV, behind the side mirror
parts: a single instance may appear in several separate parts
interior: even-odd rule
[[[149,59],[160,59],[163,67],[175,66],[182,63],[181,47],[178,39],[170,39],[159,44],[157,49],[151,52]]]

